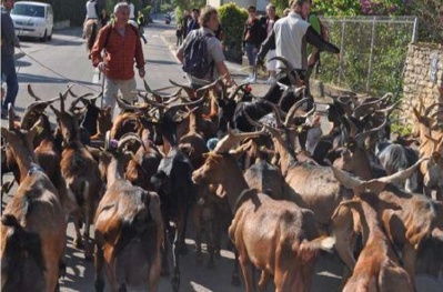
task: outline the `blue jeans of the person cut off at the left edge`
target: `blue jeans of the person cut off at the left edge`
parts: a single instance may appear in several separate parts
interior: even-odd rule
[[[19,81],[17,80],[16,63],[13,56],[1,57],[1,79],[7,83],[7,95],[4,97],[1,110],[8,110],[8,103],[13,107],[17,93],[19,92]]]

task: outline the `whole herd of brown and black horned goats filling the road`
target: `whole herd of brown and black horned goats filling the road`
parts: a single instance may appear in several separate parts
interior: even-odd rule
[[[228,231],[232,284],[240,265],[248,292],[270,279],[279,292],[310,291],[323,251],[348,268],[343,291],[415,291],[417,270],[443,272],[437,103],[413,108],[412,134],[391,141],[392,94],[334,98],[323,133],[296,82],[279,99],[254,98],[248,84],[228,93],[220,80],[170,95],[144,85],[139,103],[115,97],[113,119],[95,105],[100,95],[71,88],[44,100],[28,87],[36,101],[20,123],[10,109],[1,174],[19,187],[1,217],[2,291],[59,289],[69,219],[75,246],[94,260],[97,291],[105,282],[157,291],[170,273],[179,291],[189,218],[198,264],[203,235],[213,265]],[[2,194],[11,184],[2,181]]]

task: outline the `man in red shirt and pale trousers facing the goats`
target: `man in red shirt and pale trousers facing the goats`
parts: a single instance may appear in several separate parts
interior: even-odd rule
[[[92,64],[103,72],[104,92],[103,107],[115,105],[114,95],[120,89],[123,99],[132,103],[137,88],[134,62],[140,78],[144,78],[144,57],[137,29],[128,23],[130,8],[120,2],[114,7],[115,21],[99,31],[99,36],[91,51]],[[105,50],[104,58],[101,51]]]

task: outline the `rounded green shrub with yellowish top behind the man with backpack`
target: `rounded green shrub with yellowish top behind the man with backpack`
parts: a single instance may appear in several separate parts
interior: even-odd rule
[[[224,54],[229,60],[241,62],[243,27],[248,12],[231,2],[219,8],[219,17],[223,29]]]

